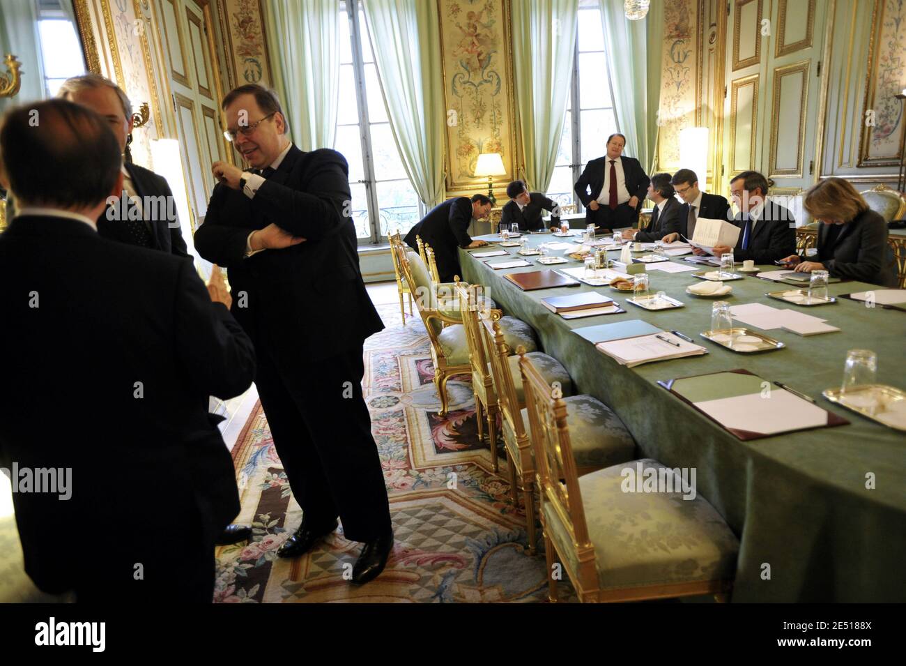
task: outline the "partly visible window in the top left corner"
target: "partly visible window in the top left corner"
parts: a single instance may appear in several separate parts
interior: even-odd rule
[[[75,25],[59,0],[38,0],[38,36],[44,67],[44,94],[54,97],[63,82],[85,72],[82,45]]]

